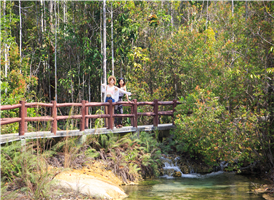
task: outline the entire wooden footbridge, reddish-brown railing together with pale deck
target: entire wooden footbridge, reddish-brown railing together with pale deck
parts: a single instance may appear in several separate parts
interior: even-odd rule
[[[113,110],[115,105],[129,106],[131,108],[130,114],[113,114],[112,112],[108,114],[88,114],[89,107],[108,107],[108,110]],[[0,106],[1,110],[12,110],[19,108],[19,117],[16,118],[0,118],[0,126],[19,123],[19,133],[4,134],[0,135],[0,144],[7,142],[18,141],[23,139],[37,139],[37,138],[54,138],[54,137],[67,137],[67,136],[85,136],[90,134],[107,134],[107,133],[128,133],[136,131],[153,131],[153,130],[170,130],[174,128],[173,122],[169,124],[159,124],[159,116],[173,116],[176,105],[179,104],[177,100],[173,101],[158,101],[154,100],[153,102],[137,102],[134,99],[131,102],[115,102],[112,103],[109,100],[106,103],[101,102],[88,102],[83,100],[81,103],[57,103],[52,101],[51,103],[26,103],[25,101],[20,101],[19,104],[15,105],[4,105]],[[137,112],[138,106],[149,105],[153,107],[153,112]],[[173,109],[169,111],[159,111],[159,106],[168,106],[172,105]],[[79,115],[67,115],[67,116],[58,116],[57,109],[60,107],[80,107],[81,113]],[[41,117],[27,117],[27,108],[38,108],[46,107],[50,109],[51,116],[41,116]],[[153,125],[137,125],[137,119],[140,116],[152,116]],[[114,127],[114,118],[115,117],[128,117],[131,119],[131,126],[126,126],[123,128]],[[107,127],[104,128],[88,128],[88,119],[98,119],[106,118]],[[80,130],[58,130],[57,121],[67,120],[67,119],[80,119]],[[51,122],[51,130],[49,131],[39,131],[39,132],[28,132],[27,123],[28,122]]]

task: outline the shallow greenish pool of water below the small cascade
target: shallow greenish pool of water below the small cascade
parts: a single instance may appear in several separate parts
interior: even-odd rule
[[[264,199],[251,193],[260,180],[228,172],[213,172],[207,175],[190,174],[183,177],[169,176],[143,181],[137,186],[124,186],[129,195],[126,200],[167,199]]]

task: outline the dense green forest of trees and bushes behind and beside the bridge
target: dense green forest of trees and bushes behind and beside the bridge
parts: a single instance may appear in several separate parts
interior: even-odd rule
[[[132,99],[182,102],[178,152],[274,167],[273,0],[1,2],[1,105],[98,102],[123,76]]]

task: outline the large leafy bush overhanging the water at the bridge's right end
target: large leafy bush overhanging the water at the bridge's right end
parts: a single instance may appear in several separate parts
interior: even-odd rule
[[[209,91],[199,89],[194,96],[196,103],[191,115],[185,114],[185,106],[177,107],[174,133],[183,152],[202,156],[209,165],[229,161],[241,167],[261,159],[254,153],[261,152],[261,147],[257,119],[251,112],[241,107],[231,114]]]

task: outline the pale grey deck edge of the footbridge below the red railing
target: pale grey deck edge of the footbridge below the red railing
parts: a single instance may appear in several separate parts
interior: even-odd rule
[[[170,130],[174,128],[173,124],[158,124],[158,127],[153,125],[142,125],[142,126],[125,126],[123,128],[114,128],[113,130],[107,128],[98,129],[85,129],[84,131],[79,130],[63,130],[57,131],[56,135],[50,131],[43,132],[29,132],[25,133],[23,136],[19,136],[18,133],[4,134],[0,135],[0,144],[5,144],[7,142],[20,141],[22,139],[38,139],[38,138],[56,138],[56,137],[66,137],[66,136],[82,136],[91,134],[108,134],[108,133],[130,133],[137,131],[153,131],[153,130]]]

